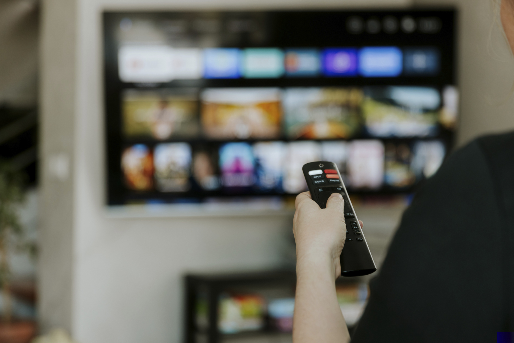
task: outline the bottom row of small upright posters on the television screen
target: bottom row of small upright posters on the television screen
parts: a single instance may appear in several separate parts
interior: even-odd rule
[[[436,140],[135,144],[123,150],[121,169],[125,186],[135,191],[297,194],[307,190],[302,166],[327,160],[337,164],[348,188],[377,190],[430,177],[445,152]]]

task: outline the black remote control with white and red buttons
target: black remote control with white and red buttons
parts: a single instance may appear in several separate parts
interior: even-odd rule
[[[341,275],[344,277],[361,276],[376,271],[377,267],[337,165],[326,161],[310,162],[305,164],[302,170],[309,186],[310,195],[320,208],[326,207],[326,201],[332,193],[339,193],[343,196],[346,242],[341,252]]]

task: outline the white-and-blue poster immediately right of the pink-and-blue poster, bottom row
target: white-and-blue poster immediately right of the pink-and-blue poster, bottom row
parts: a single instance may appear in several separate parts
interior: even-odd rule
[[[259,142],[253,145],[255,188],[258,191],[282,190],[283,142]]]

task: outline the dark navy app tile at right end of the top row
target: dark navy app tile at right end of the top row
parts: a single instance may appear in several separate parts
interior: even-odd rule
[[[439,73],[439,50],[436,47],[409,47],[403,50],[403,73],[409,76],[431,76]]]

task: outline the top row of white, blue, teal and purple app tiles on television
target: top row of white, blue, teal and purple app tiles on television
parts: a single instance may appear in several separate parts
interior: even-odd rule
[[[173,48],[124,45],[118,52],[124,82],[174,79],[434,76],[436,47]]]

